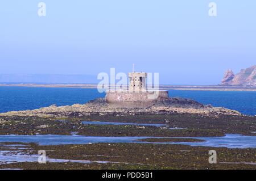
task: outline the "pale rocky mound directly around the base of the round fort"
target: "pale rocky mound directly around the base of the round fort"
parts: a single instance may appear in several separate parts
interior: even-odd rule
[[[91,100],[86,104],[74,104],[73,106],[56,105],[39,108],[38,110],[11,111],[1,113],[0,116],[39,116],[39,117],[83,117],[93,114],[98,115],[136,115],[136,114],[170,114],[170,113],[197,113],[200,115],[218,116],[241,115],[238,111],[221,107],[203,105],[195,100],[184,98],[167,98],[158,100],[147,108],[117,108],[108,104],[105,99]]]

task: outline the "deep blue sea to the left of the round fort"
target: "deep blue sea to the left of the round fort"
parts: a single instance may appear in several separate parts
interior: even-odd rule
[[[84,104],[104,96],[97,89],[0,87],[0,112],[34,110],[52,104]]]

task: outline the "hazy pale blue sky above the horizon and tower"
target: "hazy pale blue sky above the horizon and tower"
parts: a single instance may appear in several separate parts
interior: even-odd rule
[[[160,83],[217,84],[226,69],[256,64],[255,21],[252,0],[2,1],[0,74],[97,75],[134,63]]]

